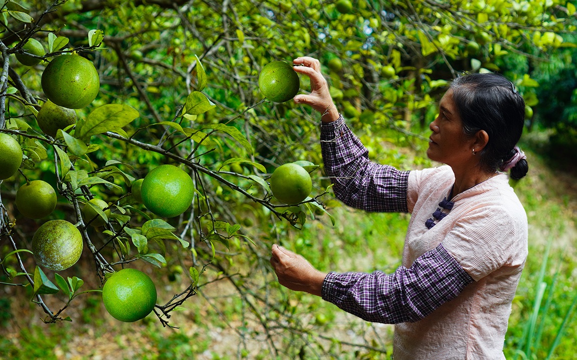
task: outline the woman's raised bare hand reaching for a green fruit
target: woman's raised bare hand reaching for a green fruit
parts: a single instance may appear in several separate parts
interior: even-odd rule
[[[310,78],[310,94],[297,95],[294,102],[308,104],[314,110],[323,115],[323,122],[335,121],[339,118],[339,112],[332,102],[331,94],[328,91],[327,80],[321,74],[321,63],[311,57],[300,57],[293,60],[293,69],[297,73],[305,74]]]

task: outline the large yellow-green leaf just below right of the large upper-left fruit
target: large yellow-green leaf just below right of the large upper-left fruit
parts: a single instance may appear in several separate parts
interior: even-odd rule
[[[89,138],[92,135],[117,132],[139,117],[138,111],[125,104],[106,104],[95,108],[85,121],[76,124],[76,138]]]

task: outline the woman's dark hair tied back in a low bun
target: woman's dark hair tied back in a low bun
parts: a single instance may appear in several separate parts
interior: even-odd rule
[[[496,73],[466,74],[451,82],[453,100],[463,122],[463,132],[473,136],[485,130],[489,142],[479,152],[486,171],[496,171],[515,155],[515,145],[523,132],[525,102],[515,85]],[[511,168],[511,178],[527,174],[526,159]]]

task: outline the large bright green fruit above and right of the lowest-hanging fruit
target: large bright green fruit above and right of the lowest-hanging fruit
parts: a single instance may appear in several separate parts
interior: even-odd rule
[[[194,196],[194,183],[174,165],[160,165],[144,177],[140,187],[144,206],[162,217],[181,215]]]

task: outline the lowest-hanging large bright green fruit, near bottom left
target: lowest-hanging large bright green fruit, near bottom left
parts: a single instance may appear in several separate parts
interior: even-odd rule
[[[122,269],[104,283],[102,301],[107,312],[116,320],[138,321],[147,317],[154,309],[156,287],[144,272]]]

